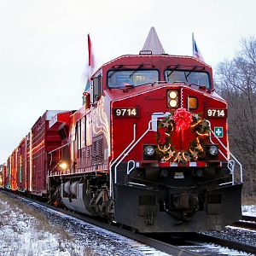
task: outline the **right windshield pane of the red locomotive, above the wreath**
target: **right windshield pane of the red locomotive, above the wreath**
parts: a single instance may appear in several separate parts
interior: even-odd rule
[[[165,79],[168,83],[185,83],[207,86],[210,88],[209,76],[204,72],[166,70]]]

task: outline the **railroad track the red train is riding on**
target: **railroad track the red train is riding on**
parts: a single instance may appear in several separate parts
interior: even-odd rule
[[[156,253],[154,252],[154,249],[156,249],[156,250],[159,250],[160,252],[168,253],[171,255],[179,255],[179,256],[202,255],[202,254],[203,255],[222,255],[224,249],[217,247],[215,245],[212,245],[212,243],[220,245],[222,247],[230,247],[231,249],[240,250],[242,252],[247,252],[247,253],[256,252],[256,247],[253,247],[247,244],[236,243],[234,241],[225,241],[224,239],[220,239],[218,237],[209,236],[205,234],[198,234],[198,233],[183,234],[183,236],[180,236],[181,234],[178,234],[177,236],[175,234],[169,234],[170,236],[168,234],[163,234],[161,235],[162,237],[159,235],[158,236],[153,235],[151,237],[149,237],[148,235],[143,236],[141,234],[133,233],[130,230],[121,229],[115,224],[109,225],[107,223],[102,223],[97,219],[88,218],[76,212],[69,212],[60,208],[49,206],[47,203],[44,203],[44,202],[33,201],[23,196],[21,197],[23,201],[27,201],[27,202],[32,201],[34,203],[33,205],[38,204],[43,207],[51,208],[55,210],[55,212],[60,212],[59,214],[61,215],[66,214],[68,216],[72,216],[73,218],[82,220],[86,223],[101,227],[102,229],[110,230],[116,234],[125,236],[125,238],[123,238],[124,242],[130,244],[131,247],[136,248],[138,251],[141,251],[146,254],[152,255]],[[131,241],[129,241],[129,239]],[[137,241],[139,243],[137,243]],[[173,244],[175,244],[175,246]],[[236,253],[236,255],[239,255],[239,254]],[[241,253],[241,255],[244,255],[244,254]]]

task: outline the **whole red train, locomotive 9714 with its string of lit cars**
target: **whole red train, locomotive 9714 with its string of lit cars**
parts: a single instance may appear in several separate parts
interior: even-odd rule
[[[154,30],[139,55],[92,75],[82,108],[46,116],[8,160],[8,188],[140,232],[220,230],[241,218],[241,165],[235,175],[212,68],[166,55]]]

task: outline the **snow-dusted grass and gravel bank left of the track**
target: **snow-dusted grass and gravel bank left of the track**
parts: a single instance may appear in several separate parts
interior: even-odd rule
[[[0,255],[143,255],[114,237],[0,191]]]

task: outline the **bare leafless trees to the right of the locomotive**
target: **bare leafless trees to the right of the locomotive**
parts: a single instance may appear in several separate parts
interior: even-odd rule
[[[256,195],[256,39],[242,38],[232,60],[220,62],[216,91],[228,101],[230,151],[243,166],[243,196]]]

